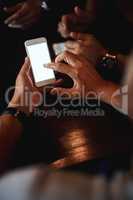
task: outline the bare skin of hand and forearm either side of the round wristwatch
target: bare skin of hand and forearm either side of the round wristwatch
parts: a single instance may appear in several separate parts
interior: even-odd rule
[[[85,57],[93,65],[97,65],[99,61],[109,52],[102,44],[91,34],[71,32],[70,37],[73,40],[65,43],[67,51]],[[110,52],[109,52],[110,53]],[[118,70],[124,74],[128,56],[117,54]]]

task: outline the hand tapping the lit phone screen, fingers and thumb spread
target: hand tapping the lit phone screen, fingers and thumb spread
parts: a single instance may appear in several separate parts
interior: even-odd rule
[[[51,94],[68,95],[69,97],[74,97],[77,94],[81,96],[83,90],[85,95],[90,91],[99,93],[106,86],[106,81],[100,77],[91,63],[85,58],[77,57],[69,52],[60,54],[56,58],[55,63],[49,64],[48,67],[67,74],[74,82],[73,88],[54,88],[51,90]]]

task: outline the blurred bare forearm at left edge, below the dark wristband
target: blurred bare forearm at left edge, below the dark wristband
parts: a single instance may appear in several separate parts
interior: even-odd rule
[[[0,172],[8,167],[10,156],[22,133],[22,125],[11,115],[0,117]]]

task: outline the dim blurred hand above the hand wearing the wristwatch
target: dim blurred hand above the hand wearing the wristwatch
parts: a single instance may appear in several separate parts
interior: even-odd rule
[[[67,38],[70,32],[85,32],[88,25],[93,21],[93,14],[81,10],[79,7],[74,8],[74,13],[64,15],[58,25],[58,32],[62,37]]]

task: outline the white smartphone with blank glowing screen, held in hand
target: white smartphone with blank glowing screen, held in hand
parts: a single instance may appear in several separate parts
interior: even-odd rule
[[[35,85],[42,87],[52,84],[55,81],[54,71],[45,68],[51,62],[47,39],[28,40],[25,42],[25,48],[31,62]]]

